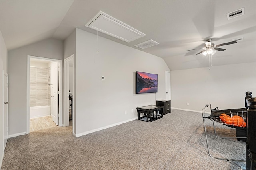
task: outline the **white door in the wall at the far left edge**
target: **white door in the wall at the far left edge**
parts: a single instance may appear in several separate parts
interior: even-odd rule
[[[8,74],[4,73],[4,148],[8,139]]]

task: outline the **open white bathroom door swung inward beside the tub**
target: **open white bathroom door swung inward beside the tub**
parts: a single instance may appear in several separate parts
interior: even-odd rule
[[[59,67],[57,62],[51,63],[51,116],[56,125],[59,123]]]

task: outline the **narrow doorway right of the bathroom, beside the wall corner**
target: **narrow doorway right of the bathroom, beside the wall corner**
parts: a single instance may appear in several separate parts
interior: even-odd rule
[[[74,125],[74,55],[64,59],[63,126]],[[74,131],[73,131],[74,133]]]

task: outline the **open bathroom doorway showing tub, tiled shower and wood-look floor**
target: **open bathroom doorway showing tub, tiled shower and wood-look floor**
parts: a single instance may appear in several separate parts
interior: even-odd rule
[[[27,131],[62,126],[62,61],[28,56]]]

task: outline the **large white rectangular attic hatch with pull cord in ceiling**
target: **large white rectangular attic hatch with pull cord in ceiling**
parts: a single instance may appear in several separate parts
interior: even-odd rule
[[[146,35],[102,11],[85,26],[128,43]]]

